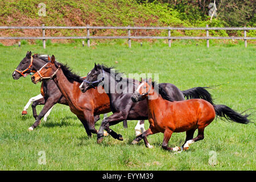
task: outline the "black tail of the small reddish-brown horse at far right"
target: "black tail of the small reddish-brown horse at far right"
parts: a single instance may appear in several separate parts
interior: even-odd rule
[[[213,105],[216,115],[224,117],[228,121],[247,124],[250,123],[248,117],[250,114],[242,115],[225,105]]]

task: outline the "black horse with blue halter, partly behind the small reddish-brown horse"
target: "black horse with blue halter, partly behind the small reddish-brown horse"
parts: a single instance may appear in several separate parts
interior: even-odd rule
[[[115,125],[125,119],[127,120],[144,120],[148,118],[148,109],[146,100],[134,103],[131,101],[135,89],[139,86],[140,82],[131,78],[118,77],[119,73],[111,72],[113,67],[105,67],[104,65],[94,65],[92,71],[88,73],[84,82],[80,85],[82,92],[88,89],[95,88],[98,85],[104,87],[105,92],[110,99],[110,107],[113,114],[105,118],[100,126],[97,134],[97,142],[101,143],[104,136],[104,129],[108,131],[113,138],[123,140],[122,135],[115,133],[109,126]],[[99,76],[100,79],[98,79]],[[105,82],[105,83],[104,83]],[[123,85],[129,85],[125,88]],[[113,88],[114,86],[114,88]],[[121,92],[120,92],[121,89]],[[133,92],[127,92],[132,90]],[[111,92],[114,90],[114,92]],[[116,90],[119,90],[116,92]],[[159,84],[159,93],[166,100],[169,101],[182,101],[184,96],[187,98],[203,98],[213,104],[210,93],[203,87],[192,88],[189,90],[181,91],[173,84],[162,83]]]

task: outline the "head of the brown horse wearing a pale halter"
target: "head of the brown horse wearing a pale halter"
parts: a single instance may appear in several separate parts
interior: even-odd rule
[[[51,79],[56,75],[59,69],[60,65],[55,64],[55,57],[52,55],[51,61],[44,64],[43,67],[39,69],[39,71],[31,76],[31,81],[34,84],[37,84],[39,81]]]

